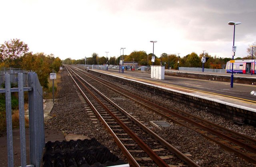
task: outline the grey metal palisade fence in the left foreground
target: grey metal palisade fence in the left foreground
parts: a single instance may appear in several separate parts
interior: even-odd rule
[[[5,74],[5,89],[0,89],[0,93],[6,96],[6,131],[8,167],[14,166],[14,153],[12,141],[12,104],[11,92],[18,92],[19,117],[20,117],[20,161],[21,167],[26,167],[26,136],[25,136],[25,114],[24,114],[24,91],[28,91],[29,109],[29,140],[30,140],[30,167],[40,167],[42,153],[45,145],[44,141],[44,110],[43,110],[43,90],[35,72],[28,74],[18,73],[14,81],[18,82],[18,88],[11,88],[13,74]],[[28,87],[24,87],[28,81]]]

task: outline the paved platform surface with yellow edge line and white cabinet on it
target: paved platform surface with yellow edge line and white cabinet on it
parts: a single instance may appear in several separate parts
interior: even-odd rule
[[[176,91],[189,93],[192,96],[200,96],[202,98],[212,99],[212,101],[218,101],[227,103],[228,105],[238,108],[244,108],[246,110],[256,113],[256,96],[252,95],[252,91],[256,91],[256,85],[234,83],[233,87],[230,87],[230,82],[218,82],[215,80],[202,80],[196,78],[185,78],[177,76],[165,76],[164,80],[157,80],[150,78],[150,72],[146,71],[122,71],[119,70],[97,70],[105,74],[126,78],[128,80],[135,80],[143,82],[145,84],[152,84],[160,86],[166,89],[173,89]],[[175,71],[172,71],[175,72]],[[182,73],[182,71],[178,71]],[[188,72],[186,72],[188,73]],[[192,72],[193,75],[200,74],[202,72]],[[222,74],[203,73],[209,75],[216,75],[221,77]],[[223,74],[224,76],[230,76],[230,74]],[[234,78],[246,78],[255,79],[256,75],[247,74],[234,74]]]

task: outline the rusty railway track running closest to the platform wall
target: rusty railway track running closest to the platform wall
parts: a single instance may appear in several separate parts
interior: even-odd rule
[[[81,74],[84,74],[82,70],[76,70],[81,72]],[[134,100],[143,107],[162,115],[162,117],[200,133],[202,136],[214,141],[224,149],[236,153],[243,159],[250,161],[251,163],[256,163],[255,139],[188,114],[172,106],[166,106],[164,103],[160,103],[154,99],[150,99],[149,97],[142,96],[134,91],[124,89],[123,87],[120,87],[120,85],[102,80],[101,78],[97,78],[91,74],[86,73],[84,75],[90,76],[90,78],[104,84],[104,86],[108,87],[108,89],[118,91],[118,93],[122,92],[122,95],[126,98]]]

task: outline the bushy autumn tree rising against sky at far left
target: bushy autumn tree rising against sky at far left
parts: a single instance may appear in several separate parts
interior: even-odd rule
[[[20,68],[21,57],[28,54],[28,45],[19,39],[5,41],[0,46],[0,62],[2,66]]]

